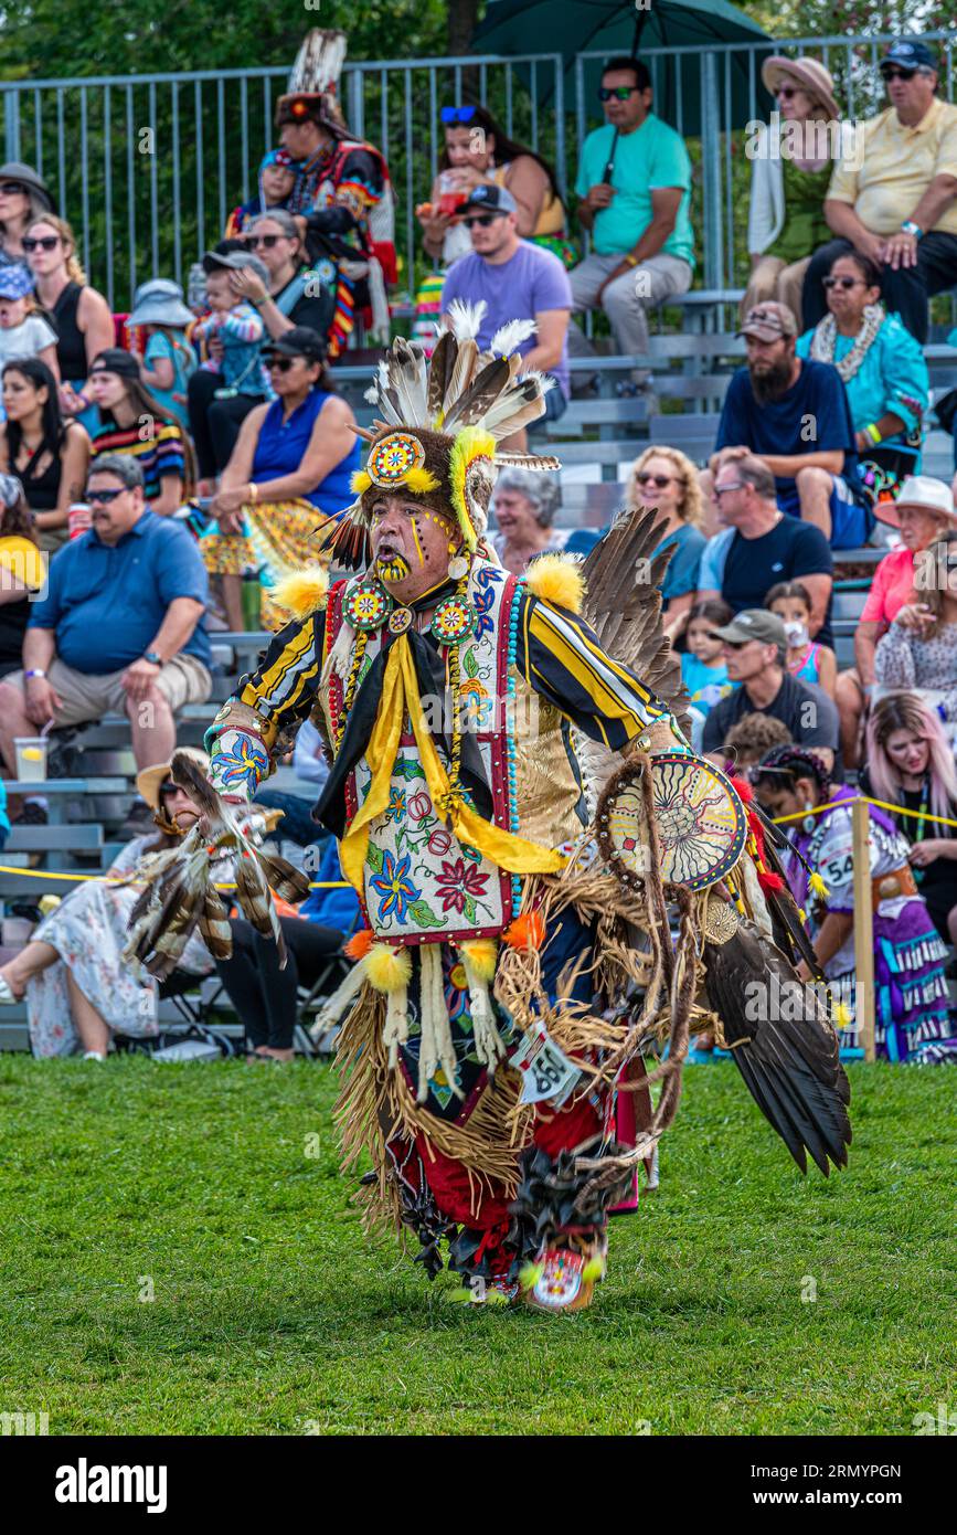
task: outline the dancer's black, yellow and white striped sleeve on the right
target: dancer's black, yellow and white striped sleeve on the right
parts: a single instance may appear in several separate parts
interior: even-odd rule
[[[581,619],[525,593],[515,665],[529,688],[554,703],[594,741],[621,751],[669,709],[613,660]]]

